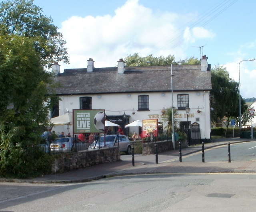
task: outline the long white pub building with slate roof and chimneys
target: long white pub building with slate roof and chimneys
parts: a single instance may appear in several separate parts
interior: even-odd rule
[[[140,128],[124,126],[135,120],[158,119],[162,123],[162,113],[172,107],[173,96],[177,127],[186,130],[189,126],[192,139],[208,141],[211,73],[206,55],[200,61],[201,65],[125,67],[120,59],[117,67],[95,68],[90,58],[87,68],[65,69],[63,73],[55,63],[52,71],[59,86],[54,92],[60,100],[51,118],[72,113],[73,109],[104,109],[106,120],[119,124],[130,135]],[[185,108],[190,108],[188,113]],[[72,134],[72,126],[53,130]]]

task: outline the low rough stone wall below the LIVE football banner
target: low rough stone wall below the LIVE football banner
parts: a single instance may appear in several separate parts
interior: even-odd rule
[[[120,160],[119,147],[86,150],[56,155],[52,164],[52,174],[109,163]]]

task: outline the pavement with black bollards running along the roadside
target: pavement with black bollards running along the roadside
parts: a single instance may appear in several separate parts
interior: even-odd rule
[[[256,141],[256,139],[225,138],[212,139],[212,142],[204,144],[204,150],[233,143]],[[227,148],[228,149],[228,148]],[[192,145],[182,149],[182,157],[193,153],[202,153],[202,145]],[[231,153],[232,154],[232,153]],[[134,155],[134,166],[132,155],[121,155],[121,160],[104,163],[59,173],[44,175],[33,179],[0,179],[5,182],[17,183],[81,183],[98,180],[106,177],[123,175],[146,175],[158,173],[186,174],[186,173],[256,173],[256,160],[250,161],[226,161],[220,162],[180,162],[179,149],[158,153],[156,155]]]

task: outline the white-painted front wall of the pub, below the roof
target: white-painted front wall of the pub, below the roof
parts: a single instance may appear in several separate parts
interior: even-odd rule
[[[150,110],[149,111],[137,111],[138,110],[138,96],[149,95]],[[196,118],[199,118],[198,123],[201,129],[201,138],[210,138],[210,102],[209,92],[174,92],[174,107],[177,108],[177,94],[189,94],[189,121],[192,124],[196,122]],[[131,93],[128,94],[100,94],[98,95],[72,95],[72,96],[60,96],[59,101],[59,115],[66,113],[66,109],[72,112],[73,109],[79,109],[79,98],[83,96],[92,97],[92,109],[104,109],[107,116],[122,115],[124,112],[126,115],[130,115],[130,122],[134,120],[155,119],[162,121],[160,117],[162,115],[161,110],[163,108],[170,108],[172,105],[171,92],[156,92],[156,93]],[[198,110],[202,112],[196,112]],[[135,112],[135,114],[132,114]],[[178,111],[181,114],[178,121],[187,121],[186,112],[184,110]],[[56,127],[53,130],[56,132],[64,131],[72,133],[72,126],[67,129],[68,126]],[[137,132],[138,128],[130,128],[130,133]]]

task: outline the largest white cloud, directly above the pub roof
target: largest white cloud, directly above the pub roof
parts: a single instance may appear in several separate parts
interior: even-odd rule
[[[189,43],[214,37],[214,33],[202,27],[179,27],[186,26],[192,16],[155,12],[138,0],[127,0],[114,16],[72,16],[60,28],[70,56],[70,65],[60,63],[61,70],[85,68],[89,58],[95,61],[95,67],[113,67],[119,58],[133,53],[142,57],[190,57],[185,53]]]

